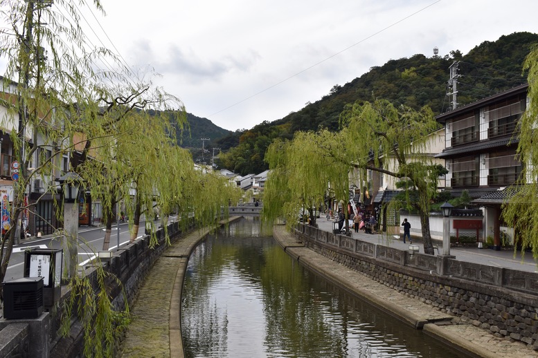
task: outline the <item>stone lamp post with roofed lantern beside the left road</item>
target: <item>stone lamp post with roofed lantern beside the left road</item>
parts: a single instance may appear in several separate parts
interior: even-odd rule
[[[82,178],[73,172],[58,179],[64,199],[64,246],[68,254],[65,263],[69,278],[77,273],[78,265],[78,191]],[[69,239],[71,238],[71,241]]]

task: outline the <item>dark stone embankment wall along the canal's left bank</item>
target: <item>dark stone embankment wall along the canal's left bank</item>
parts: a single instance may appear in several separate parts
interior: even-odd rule
[[[179,227],[179,223],[168,225],[170,241],[177,241],[183,232],[192,227]],[[136,298],[138,288],[142,285],[147,272],[151,269],[163,251],[168,247],[165,243],[164,228],[156,232],[159,242],[154,248],[150,248],[150,236],[146,235],[134,243],[125,245],[122,249],[114,252],[109,263],[104,263],[105,270],[120,280],[110,278],[107,281],[112,305],[116,310],[125,308],[127,303],[132,304]],[[91,265],[84,267],[84,274],[95,282],[96,270]],[[97,290],[97,287],[94,287]],[[124,294],[125,293],[125,294]],[[38,319],[6,320],[0,319],[0,358],[1,357],[82,357],[83,331],[73,314],[71,318],[71,332],[68,337],[57,335],[61,323],[62,301],[69,299],[70,291],[62,286],[62,295],[56,308],[50,312],[44,312]],[[119,349],[123,337],[117,337],[116,348]]]

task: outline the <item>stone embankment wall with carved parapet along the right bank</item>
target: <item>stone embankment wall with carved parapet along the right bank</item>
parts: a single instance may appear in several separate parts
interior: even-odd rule
[[[332,234],[309,225],[295,231],[323,256],[436,308],[468,317],[498,337],[538,350],[538,274],[413,254]]]

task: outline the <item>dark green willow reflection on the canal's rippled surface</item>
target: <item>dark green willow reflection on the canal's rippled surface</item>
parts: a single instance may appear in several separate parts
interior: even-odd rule
[[[280,247],[264,254],[268,265],[261,279],[268,351],[287,352],[290,357],[346,356],[343,330],[326,321],[324,299],[307,285],[301,267],[294,267]]]

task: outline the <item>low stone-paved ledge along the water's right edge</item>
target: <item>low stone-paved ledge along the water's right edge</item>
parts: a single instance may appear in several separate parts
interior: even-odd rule
[[[455,350],[461,350],[477,357],[538,357],[538,352],[528,349],[524,343],[496,337],[490,332],[474,326],[472,321],[443,313],[420,299],[393,290],[303,247],[301,243],[298,243],[296,237],[287,232],[283,226],[274,227],[273,235],[285,249],[285,252],[296,258],[305,267],[361,296],[377,308],[409,323],[414,328],[422,328],[428,335],[445,341]],[[357,234],[353,233],[353,235]],[[376,238],[377,235],[361,234],[361,239],[363,239],[362,235],[367,236],[370,240],[379,240]],[[391,246],[401,245],[404,248],[402,242],[393,241],[389,244]],[[405,245],[409,246],[409,243]],[[493,252],[492,250],[487,251]]]

